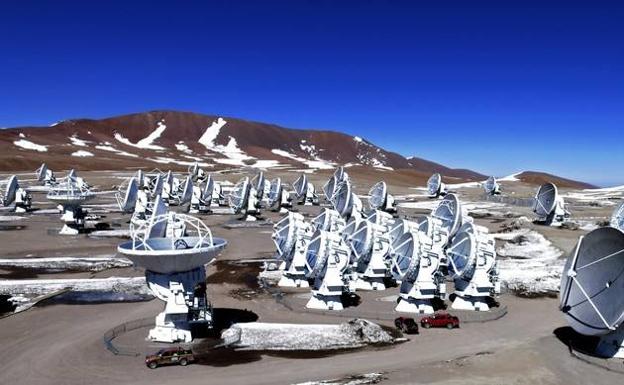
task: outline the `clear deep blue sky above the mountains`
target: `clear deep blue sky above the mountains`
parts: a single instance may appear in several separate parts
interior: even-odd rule
[[[1,3],[0,127],[161,108],[624,184],[624,2]]]

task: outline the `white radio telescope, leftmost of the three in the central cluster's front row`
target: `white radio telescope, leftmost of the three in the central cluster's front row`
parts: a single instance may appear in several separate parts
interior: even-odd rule
[[[346,290],[343,274],[349,265],[349,246],[337,233],[316,230],[306,249],[306,277],[313,279],[308,309],[342,310]]]

